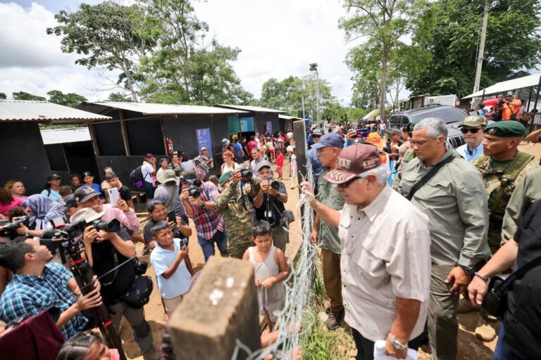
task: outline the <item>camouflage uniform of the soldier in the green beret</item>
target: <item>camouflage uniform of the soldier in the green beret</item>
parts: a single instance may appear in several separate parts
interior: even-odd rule
[[[496,162],[490,156],[481,155],[473,161],[485,181],[488,196],[489,230],[488,245],[492,255],[502,243],[502,222],[509,199],[524,174],[539,167],[533,156],[517,151],[513,160]]]

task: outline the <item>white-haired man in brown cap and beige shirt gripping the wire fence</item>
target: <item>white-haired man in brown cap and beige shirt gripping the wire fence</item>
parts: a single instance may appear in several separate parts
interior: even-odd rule
[[[338,228],[345,321],[352,327],[356,359],[372,359],[375,342],[404,359],[420,343],[428,314],[430,232],[428,217],[386,185],[378,148],[355,144],[342,150],[324,179],[337,184],[342,210],[316,200],[310,206]]]

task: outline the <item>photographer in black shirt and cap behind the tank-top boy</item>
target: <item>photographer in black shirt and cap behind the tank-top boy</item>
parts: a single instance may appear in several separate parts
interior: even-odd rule
[[[289,233],[280,224],[280,217],[285,210],[284,203],[287,203],[285,185],[281,181],[273,180],[273,172],[268,162],[259,164],[256,172],[261,181],[259,193],[254,198],[256,219],[268,221],[273,232],[273,245],[285,253],[285,244],[290,240]]]

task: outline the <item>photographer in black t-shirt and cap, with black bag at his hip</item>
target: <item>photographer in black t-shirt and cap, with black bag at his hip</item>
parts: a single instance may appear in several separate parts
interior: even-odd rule
[[[71,224],[82,220],[87,223],[97,219],[111,221],[111,218],[105,217],[107,212],[97,213],[92,209],[92,203],[96,201],[94,200],[96,193],[92,193],[93,189],[85,188],[83,191],[91,190],[85,196],[77,193],[80,190],[77,189],[75,192],[79,210],[71,217]],[[119,200],[119,203],[120,201],[123,200]],[[130,209],[127,204],[125,207]],[[108,212],[113,209],[111,208]],[[142,309],[142,306],[148,302],[152,289],[151,283],[146,283],[149,278],[142,276],[146,269],[137,271],[138,263],[132,259],[135,257],[135,245],[128,231],[123,226],[120,226],[116,232],[97,231],[94,226],[87,226],[83,233],[83,241],[87,260],[94,273],[101,278],[101,295],[104,303],[113,313],[113,326],[117,333],[120,330],[120,320],[122,316],[125,316],[132,326],[133,337],[141,352],[150,359],[158,359],[158,353],[152,345],[151,329],[144,319]],[[138,288],[141,285],[144,288]],[[139,290],[138,293],[137,290]]]

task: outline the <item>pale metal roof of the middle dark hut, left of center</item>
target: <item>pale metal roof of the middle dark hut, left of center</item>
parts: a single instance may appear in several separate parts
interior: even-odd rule
[[[157,103],[123,103],[114,101],[99,101],[96,103],[82,103],[79,107],[84,109],[97,110],[103,112],[107,108],[116,108],[128,111],[135,111],[143,115],[212,115],[212,114],[240,114],[245,113],[240,110],[230,110],[223,108],[213,108],[211,106],[201,105],[178,105],[178,104],[157,104]]]

